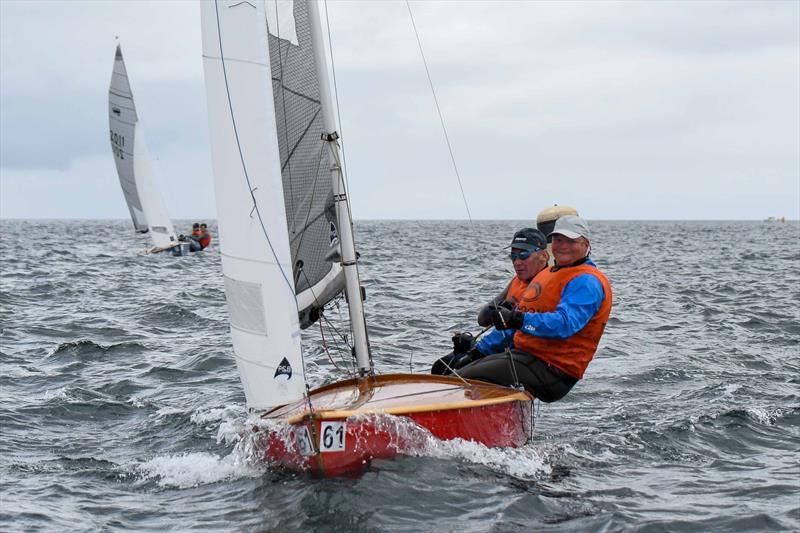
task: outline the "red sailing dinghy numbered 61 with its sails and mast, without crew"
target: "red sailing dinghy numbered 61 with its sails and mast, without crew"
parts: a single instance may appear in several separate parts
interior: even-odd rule
[[[264,458],[338,475],[420,434],[523,445],[528,393],[373,370],[316,3],[201,8],[231,337]],[[300,331],[343,290],[358,377],[307,392]]]

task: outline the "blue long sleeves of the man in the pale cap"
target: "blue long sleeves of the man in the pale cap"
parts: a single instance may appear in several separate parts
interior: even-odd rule
[[[591,261],[585,264],[596,267]],[[569,267],[567,267],[569,268]],[[561,301],[549,313],[525,313],[519,330],[492,330],[478,341],[476,347],[484,355],[514,347],[514,333],[522,331],[537,337],[566,339],[583,329],[600,309],[605,293],[600,280],[591,274],[572,279],[561,291]]]

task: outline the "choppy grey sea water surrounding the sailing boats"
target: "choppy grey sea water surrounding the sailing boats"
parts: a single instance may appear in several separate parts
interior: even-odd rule
[[[528,224],[357,222],[377,369],[427,372],[477,331]],[[591,227],[611,320],[530,444],[430,441],[315,479],[242,440],[218,241],[140,256],[129,221],[0,221],[0,530],[800,529],[800,226]],[[346,329],[344,305],[326,316]],[[312,385],[350,364],[325,339],[304,334]]]

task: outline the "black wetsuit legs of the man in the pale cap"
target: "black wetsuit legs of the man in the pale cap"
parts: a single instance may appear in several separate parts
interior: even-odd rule
[[[530,354],[512,350],[511,355],[519,382],[525,387],[525,390],[543,402],[560,400],[578,382],[572,376]],[[514,384],[511,365],[506,353],[487,355],[478,359],[460,369],[458,375],[462,378],[480,379],[498,385]]]

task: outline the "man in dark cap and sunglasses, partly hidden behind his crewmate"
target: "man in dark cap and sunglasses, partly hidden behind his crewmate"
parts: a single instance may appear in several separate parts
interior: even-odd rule
[[[481,326],[492,325],[491,312],[497,306],[515,309],[522,294],[533,277],[547,266],[547,237],[533,228],[522,228],[511,239],[509,258],[514,265],[516,275],[506,288],[478,313]],[[474,337],[471,333],[453,335],[453,351],[438,359],[431,367],[431,374],[448,375],[452,369],[472,362],[471,351],[474,349]],[[480,356],[481,354],[473,354]]]

